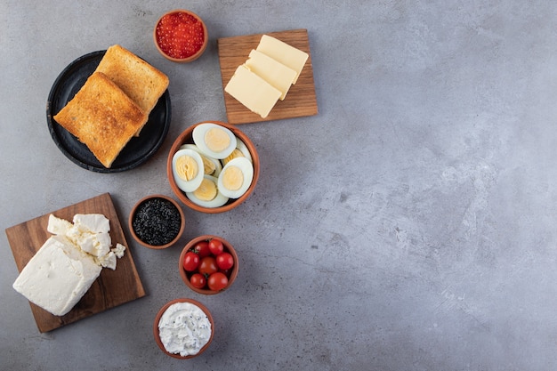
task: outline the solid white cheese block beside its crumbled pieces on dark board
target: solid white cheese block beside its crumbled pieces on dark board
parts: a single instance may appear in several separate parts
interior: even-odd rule
[[[102,267],[68,239],[48,238],[13,288],[45,311],[63,316],[79,302],[101,274]]]

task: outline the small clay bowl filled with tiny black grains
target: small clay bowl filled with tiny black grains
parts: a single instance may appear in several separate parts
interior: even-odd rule
[[[182,236],[186,220],[182,207],[165,195],[141,198],[133,206],[128,228],[141,246],[164,249],[173,246]]]

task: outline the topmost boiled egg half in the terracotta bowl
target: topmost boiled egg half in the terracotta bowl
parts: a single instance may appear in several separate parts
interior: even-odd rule
[[[236,148],[236,135],[222,125],[199,124],[194,127],[192,136],[198,149],[208,157],[222,159]]]

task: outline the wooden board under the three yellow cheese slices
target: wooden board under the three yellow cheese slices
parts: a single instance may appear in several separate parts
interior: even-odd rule
[[[257,48],[263,34],[248,36],[223,37],[217,40],[219,61],[221,63],[222,93],[226,115],[230,124],[246,124],[261,121],[271,121],[284,118],[314,116],[318,114],[315,84],[313,81],[313,67],[311,65],[310,42],[307,29],[294,29],[290,31],[270,32],[265,35],[273,36],[278,40],[294,46],[310,54],[305,62],[302,73],[295,85],[290,87],[284,101],[278,101],[270,110],[268,117],[253,113],[234,99],[229,93],[224,92],[224,87],[230,81],[234,71],[243,64],[252,49]]]

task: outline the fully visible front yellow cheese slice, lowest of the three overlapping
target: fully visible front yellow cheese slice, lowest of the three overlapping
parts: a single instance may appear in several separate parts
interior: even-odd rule
[[[224,91],[262,118],[277,104],[280,91],[246,68],[238,66]]]

